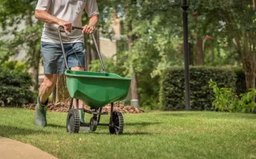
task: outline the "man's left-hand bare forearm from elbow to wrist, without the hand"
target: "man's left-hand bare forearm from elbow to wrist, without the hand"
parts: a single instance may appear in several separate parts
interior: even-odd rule
[[[40,19],[43,22],[46,23],[52,23],[52,24],[59,24],[59,18],[49,14],[47,11],[43,10],[36,10],[35,11],[35,18]]]

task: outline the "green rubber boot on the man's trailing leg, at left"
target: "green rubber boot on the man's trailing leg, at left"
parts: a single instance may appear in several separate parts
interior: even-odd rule
[[[38,104],[35,107],[35,125],[39,127],[45,127],[47,124],[46,120],[46,109],[47,109],[48,99],[46,104],[42,104],[38,97]]]

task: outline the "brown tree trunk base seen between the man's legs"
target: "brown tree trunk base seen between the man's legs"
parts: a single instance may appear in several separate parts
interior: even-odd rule
[[[69,104],[70,101],[71,101],[71,97],[68,93],[65,75],[59,74],[57,84],[56,84],[56,101],[55,102]]]

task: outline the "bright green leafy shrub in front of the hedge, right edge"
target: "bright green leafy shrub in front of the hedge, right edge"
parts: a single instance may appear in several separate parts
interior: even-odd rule
[[[209,87],[214,92],[215,99],[212,104],[218,111],[249,112],[253,111],[256,106],[252,100],[256,95],[255,89],[250,89],[249,92],[241,94],[238,98],[238,95],[235,95],[235,90],[226,87],[219,88],[212,79],[209,81]]]

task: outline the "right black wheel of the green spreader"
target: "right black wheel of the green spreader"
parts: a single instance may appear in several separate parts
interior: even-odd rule
[[[123,115],[119,111],[114,111],[112,114],[112,120],[110,118],[109,133],[121,135],[123,133]]]

